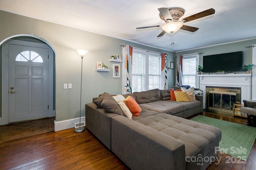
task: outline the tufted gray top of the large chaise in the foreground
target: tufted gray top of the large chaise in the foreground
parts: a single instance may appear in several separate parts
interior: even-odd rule
[[[216,127],[163,113],[136,122],[184,143],[186,156],[190,157],[199,154],[206,156],[221,140],[221,131]]]

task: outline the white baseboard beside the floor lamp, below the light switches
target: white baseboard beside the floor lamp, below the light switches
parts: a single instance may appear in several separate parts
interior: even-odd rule
[[[81,122],[83,121],[85,121],[85,117],[81,117]],[[54,131],[58,132],[60,130],[74,128],[75,127],[74,123],[79,123],[79,118],[70,119],[66,121],[59,121],[59,122],[54,121]]]

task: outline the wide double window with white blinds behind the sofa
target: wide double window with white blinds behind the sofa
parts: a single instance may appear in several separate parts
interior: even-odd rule
[[[161,54],[133,49],[132,91],[161,88]]]

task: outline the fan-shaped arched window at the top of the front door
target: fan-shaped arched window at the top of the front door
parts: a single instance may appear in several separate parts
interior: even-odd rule
[[[37,62],[37,63],[44,62],[42,57],[34,51],[23,51],[23,52],[19,53],[15,58],[15,61],[28,62],[29,60],[31,60],[32,62]]]

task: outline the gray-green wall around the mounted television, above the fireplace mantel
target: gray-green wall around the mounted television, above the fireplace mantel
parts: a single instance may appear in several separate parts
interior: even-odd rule
[[[200,65],[203,66],[203,56],[204,55],[213,55],[213,54],[220,54],[220,53],[230,53],[236,51],[243,51],[243,64],[250,64],[252,63],[252,47],[246,48],[247,46],[256,44],[256,39],[254,40],[247,40],[241,42],[234,42],[228,43],[224,45],[215,45],[212,47],[204,47],[200,49],[193,49],[188,51],[177,52],[176,55],[185,55],[191,53],[202,53],[200,54]],[[256,64],[256,63],[254,63]]]

